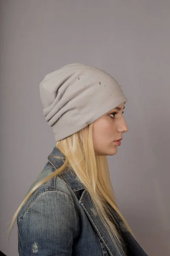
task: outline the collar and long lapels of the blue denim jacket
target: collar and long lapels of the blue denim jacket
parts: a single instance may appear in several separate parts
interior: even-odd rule
[[[55,146],[51,154],[48,156],[48,164],[53,167],[54,169],[59,169],[63,162],[60,159],[56,159],[55,155],[59,155],[64,157],[65,156],[59,151],[59,149]],[[91,222],[91,225],[93,229],[95,230],[95,233],[98,235],[99,239],[102,240],[103,244],[105,244],[105,247],[108,249],[108,253],[110,256],[118,256],[118,252],[116,250],[115,245],[113,244],[113,241],[111,239],[111,236],[108,234],[107,229],[103,225],[102,221],[100,220],[99,216],[95,212],[94,209],[94,203],[91,199],[90,194],[85,189],[85,186],[80,182],[79,178],[77,177],[76,173],[73,169],[67,170],[67,172],[62,172],[62,174],[59,175],[59,177],[64,180],[68,185],[71,187],[71,189],[76,192],[83,189],[83,192],[81,194],[81,197],[79,199],[79,204],[84,209],[88,220]],[[140,247],[140,245],[137,243],[137,241],[133,238],[133,236],[130,234],[130,232],[125,227],[123,221],[120,219],[119,215],[116,213],[116,211],[108,205],[108,207],[111,209],[111,212],[113,213],[113,221],[116,219],[117,222],[117,228],[122,233],[122,236],[124,236],[125,241],[127,244],[133,244],[133,246],[130,246],[130,249],[132,250],[133,254],[129,253],[128,255],[141,255],[141,256],[147,256],[147,254],[144,252],[144,250]],[[116,223],[115,223],[116,224]],[[115,237],[115,241],[117,246],[119,247],[119,244],[117,243],[117,239]],[[122,256],[125,256],[124,251],[121,247],[119,247],[119,250],[121,252]]]

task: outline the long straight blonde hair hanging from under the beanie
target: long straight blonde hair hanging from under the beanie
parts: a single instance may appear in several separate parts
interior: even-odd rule
[[[113,207],[113,209],[117,212],[117,214],[125,224],[125,227],[127,227],[127,230],[134,237],[132,230],[127,224],[125,218],[122,216],[115,202],[114,190],[112,187],[108,166],[108,158],[107,156],[98,156],[94,151],[92,131],[93,123],[86,126],[82,130],[72,134],[71,136],[57,142],[56,146],[59,151],[61,151],[62,154],[65,156],[65,162],[63,162],[63,165],[59,169],[52,172],[44,179],[40,180],[26,195],[23,202],[20,204],[13,218],[11,219],[11,225],[7,232],[8,239],[14,225],[14,221],[17,218],[18,212],[26,203],[28,198],[34,193],[34,191],[46,181],[62,173],[65,168],[70,167],[74,169],[74,172],[78,176],[79,180],[82,182],[82,184],[84,184],[86,190],[91,195],[91,199],[94,202],[96,212],[98,213],[101,221],[103,222],[106,229],[108,230],[108,233],[113,239],[113,243],[115,244],[117,250],[119,251],[112,234],[116,236],[121,246],[123,246],[123,244],[115,225],[109,218],[109,216],[113,218],[113,214],[111,215],[107,203],[110,204],[111,207]],[[82,141],[80,140],[80,136],[82,138]],[[57,159],[62,158],[60,156],[53,157]]]

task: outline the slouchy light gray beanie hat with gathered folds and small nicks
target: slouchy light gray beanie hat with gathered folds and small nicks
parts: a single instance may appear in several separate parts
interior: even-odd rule
[[[98,67],[73,63],[40,83],[43,115],[59,141],[127,102],[117,81]]]

